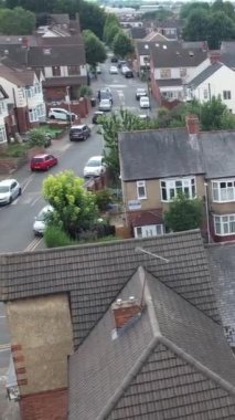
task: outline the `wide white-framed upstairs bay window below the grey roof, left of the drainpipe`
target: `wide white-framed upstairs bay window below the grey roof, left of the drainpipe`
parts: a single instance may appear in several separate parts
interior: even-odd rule
[[[181,187],[177,183],[181,182]],[[189,198],[193,199],[196,197],[196,181],[195,177],[186,178],[172,178],[172,179],[160,179],[161,189],[161,201],[169,202],[177,198],[179,192],[185,193],[185,189],[189,188]],[[163,189],[167,193],[167,199],[163,198]],[[180,191],[182,189],[182,191]],[[179,190],[179,191],[178,191]],[[172,195],[173,191],[173,195]]]

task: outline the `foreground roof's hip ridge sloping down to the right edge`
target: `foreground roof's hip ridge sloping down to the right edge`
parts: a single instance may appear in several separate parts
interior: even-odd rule
[[[161,336],[160,342],[165,345],[168,348],[170,348],[173,353],[175,353],[179,357],[184,359],[186,363],[189,363],[191,366],[196,368],[202,372],[202,375],[205,375],[210,380],[213,380],[217,385],[220,385],[222,388],[224,388],[227,392],[233,393],[235,396],[235,387],[223,379],[221,376],[215,374],[213,370],[210,370],[206,366],[201,364],[201,361],[196,360],[194,357],[182,350],[180,347],[178,347],[174,343],[172,343],[170,339],[165,338],[164,336]]]

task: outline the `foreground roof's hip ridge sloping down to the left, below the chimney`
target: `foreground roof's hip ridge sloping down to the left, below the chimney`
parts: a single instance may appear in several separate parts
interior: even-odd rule
[[[103,408],[102,412],[97,416],[96,420],[104,420],[110,414],[110,412],[113,411],[119,398],[122,396],[122,393],[127,389],[130,381],[135,378],[135,376],[138,374],[139,369],[142,367],[146,359],[150,356],[150,354],[157,346],[158,340],[159,340],[159,337],[152,338],[149,346],[142,351],[141,356],[138,358],[132,369],[130,369],[129,374],[126,375],[125,379],[122,380],[122,384],[118,387],[116,392],[109,399],[108,403]]]

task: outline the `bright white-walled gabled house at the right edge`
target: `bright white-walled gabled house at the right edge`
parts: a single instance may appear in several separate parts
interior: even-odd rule
[[[235,72],[223,63],[213,63],[185,85],[185,99],[200,103],[220,97],[232,114],[235,114]]]

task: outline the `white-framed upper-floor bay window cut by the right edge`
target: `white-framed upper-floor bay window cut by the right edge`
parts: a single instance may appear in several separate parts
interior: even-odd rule
[[[226,185],[225,188],[221,187],[222,183]],[[213,202],[234,202],[235,201],[235,178],[218,179],[216,181],[212,181],[212,201]]]

